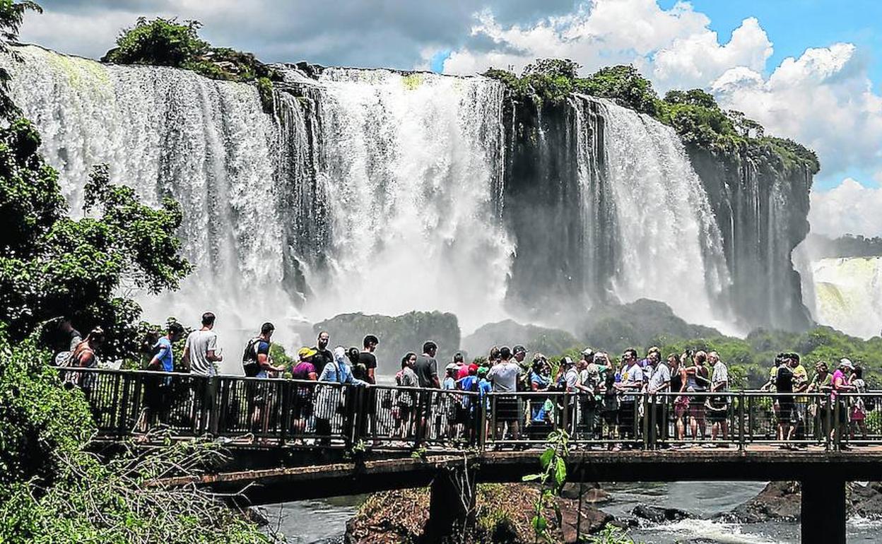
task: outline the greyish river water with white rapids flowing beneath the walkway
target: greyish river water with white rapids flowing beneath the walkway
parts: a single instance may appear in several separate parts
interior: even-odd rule
[[[676,481],[670,483],[605,483],[612,499],[600,505],[614,516],[627,516],[639,503],[687,510],[698,516],[667,525],[646,525],[632,529],[637,542],[647,544],[726,543],[796,544],[798,523],[736,524],[714,520],[721,512],[734,509],[765,486],[758,481]],[[273,528],[278,527],[288,542],[330,544],[340,542],[346,522],[355,514],[360,497],[338,497],[323,501],[302,501],[267,507]],[[280,518],[281,514],[281,519]],[[878,542],[882,520],[848,520],[849,544]]]

